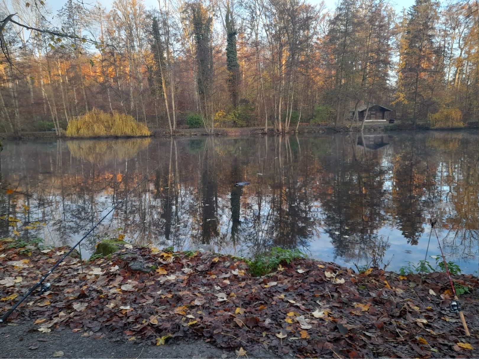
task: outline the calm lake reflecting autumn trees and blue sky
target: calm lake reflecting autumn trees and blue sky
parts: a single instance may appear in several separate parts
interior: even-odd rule
[[[5,141],[0,237],[103,237],[251,256],[271,247],[399,270],[439,254],[478,271],[478,132]],[[249,181],[244,186],[234,186]],[[16,232],[14,232],[16,231]]]

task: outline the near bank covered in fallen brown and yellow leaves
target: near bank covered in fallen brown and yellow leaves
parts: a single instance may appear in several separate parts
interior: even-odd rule
[[[14,247],[0,242],[0,314],[68,249]],[[142,273],[132,261],[157,268]],[[471,275],[454,280],[478,287]],[[440,272],[422,280],[379,269],[358,274],[299,258],[254,277],[239,258],[126,244],[83,266],[68,257],[48,281],[51,291],[29,297],[9,322],[27,319],[43,333],[116,333],[152,345],[201,338],[238,355],[262,349],[299,358],[470,358],[478,352],[477,293],[460,297],[471,332],[465,337],[445,310],[451,293]]]

